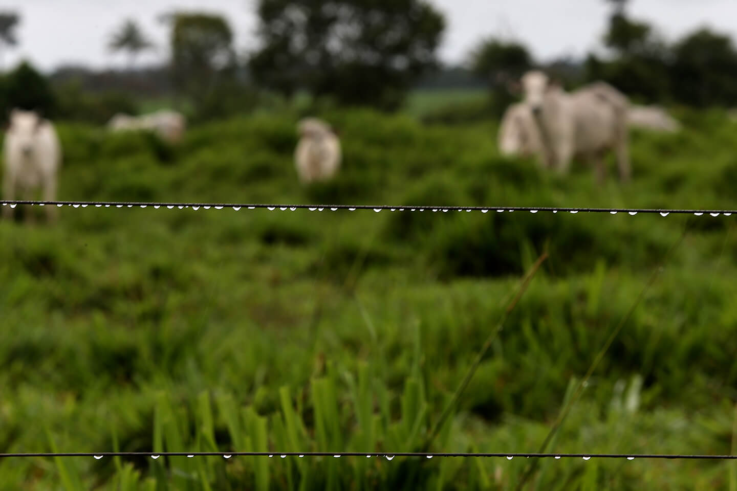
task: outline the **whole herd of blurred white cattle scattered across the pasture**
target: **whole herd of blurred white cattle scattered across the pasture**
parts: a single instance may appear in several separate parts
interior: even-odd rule
[[[680,124],[660,107],[631,105],[627,96],[605,82],[566,92],[542,71],[528,71],[508,82],[522,101],[507,108],[498,133],[502,155],[537,156],[544,169],[565,173],[573,158],[593,164],[599,182],[604,179],[604,158],[614,152],[621,180],[630,177],[629,128],[677,132]],[[160,110],[144,116],[117,114],[108,123],[112,132],[143,130],[171,143],[184,135],[186,119],[180,113]],[[340,168],[338,133],[325,121],[298,122],[299,141],[294,159],[298,178],[306,184],[329,180]],[[41,188],[44,201],[56,199],[62,149],[54,124],[34,111],[12,110],[3,146],[3,199],[32,199]],[[3,206],[4,218],[13,207]],[[49,220],[55,208],[46,207]]]

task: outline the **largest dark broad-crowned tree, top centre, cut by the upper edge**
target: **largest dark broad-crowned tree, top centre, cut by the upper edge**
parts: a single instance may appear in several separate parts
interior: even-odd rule
[[[394,110],[437,66],[443,16],[424,0],[259,0],[262,47],[254,80],[290,97],[298,88],[343,105]]]

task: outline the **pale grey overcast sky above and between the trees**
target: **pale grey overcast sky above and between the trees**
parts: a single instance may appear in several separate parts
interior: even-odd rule
[[[23,16],[20,46],[2,53],[3,66],[26,57],[38,68],[80,63],[101,68],[122,66],[123,55],[105,49],[111,31],[131,17],[161,51],[142,55],[148,63],[166,54],[167,29],[156,17],[168,10],[206,10],[227,15],[237,46],[254,46],[255,0],[9,0],[2,10]],[[447,16],[440,50],[448,63],[464,59],[486,35],[513,36],[541,60],[564,54],[580,56],[599,46],[608,5],[604,0],[430,0]],[[629,13],[657,25],[666,38],[709,26],[737,39],[737,0],[632,0]]]

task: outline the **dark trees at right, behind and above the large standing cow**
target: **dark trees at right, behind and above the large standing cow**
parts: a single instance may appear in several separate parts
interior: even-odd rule
[[[512,99],[505,80],[546,68],[567,88],[605,80],[636,102],[690,107],[737,106],[737,50],[729,35],[695,29],[668,43],[657,27],[632,18],[628,0],[613,4],[601,41],[609,56],[590,53],[580,69],[542,66],[523,43],[489,38],[472,52],[470,66],[492,91],[498,113]]]

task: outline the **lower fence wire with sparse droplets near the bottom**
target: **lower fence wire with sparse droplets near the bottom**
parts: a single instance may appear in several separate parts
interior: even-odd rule
[[[691,460],[736,460],[737,455],[698,455],[698,454],[682,454],[682,453],[483,453],[483,452],[41,452],[41,453],[0,453],[0,458],[28,458],[28,457],[94,457],[94,459],[102,459],[102,457],[123,457],[123,456],[147,456],[152,459],[158,459],[160,456],[222,456],[230,459],[233,456],[256,456],[256,457],[275,457],[282,459],[287,456],[297,457],[385,457],[388,460],[394,457],[425,457],[432,459],[433,457],[497,457],[506,458],[508,460],[514,457],[523,458],[551,458],[551,459],[691,459]]]

